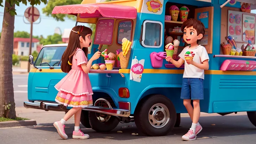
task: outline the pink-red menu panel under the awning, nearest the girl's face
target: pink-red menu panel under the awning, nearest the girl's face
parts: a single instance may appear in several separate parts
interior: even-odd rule
[[[111,45],[113,37],[114,19],[101,19],[98,21],[94,43],[98,45]]]

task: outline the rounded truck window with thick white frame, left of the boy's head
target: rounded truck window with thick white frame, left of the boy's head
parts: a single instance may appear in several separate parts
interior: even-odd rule
[[[146,48],[160,48],[163,40],[163,24],[158,21],[144,21],[141,44]]]

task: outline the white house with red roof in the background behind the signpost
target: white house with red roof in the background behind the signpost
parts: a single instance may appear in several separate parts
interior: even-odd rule
[[[30,38],[14,38],[13,40],[13,54],[19,56],[29,56],[29,42]],[[39,42],[38,39],[32,39],[32,49],[33,51],[37,51],[37,43]]]

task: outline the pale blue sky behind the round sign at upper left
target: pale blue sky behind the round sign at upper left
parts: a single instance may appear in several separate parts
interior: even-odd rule
[[[5,5],[5,0],[3,0],[3,5]],[[70,19],[66,19],[64,22],[61,22],[56,21],[54,18],[45,16],[45,14],[42,13],[42,8],[44,8],[45,6],[46,5],[43,3],[41,3],[41,5],[35,6],[39,10],[40,15],[43,17],[41,17],[41,22],[39,24],[33,24],[33,35],[43,35],[43,37],[47,37],[47,35],[54,34],[54,30],[56,27],[59,27],[61,29],[61,32],[63,32],[64,29],[72,29],[75,26],[75,21],[72,21]],[[25,24],[23,22],[24,11],[28,7],[30,7],[29,3],[27,4],[27,6],[21,3],[19,7],[15,7],[18,16],[15,16],[14,32],[26,31],[30,33],[30,24]],[[0,7],[0,32],[2,31],[3,12],[4,7]],[[35,23],[38,22],[39,19]]]

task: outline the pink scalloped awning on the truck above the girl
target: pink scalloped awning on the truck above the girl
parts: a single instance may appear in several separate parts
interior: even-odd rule
[[[80,4],[54,7],[52,14],[80,14],[81,18],[108,17],[135,19],[137,10],[135,7],[117,4]]]

